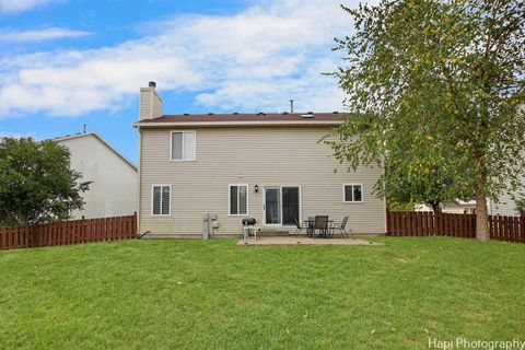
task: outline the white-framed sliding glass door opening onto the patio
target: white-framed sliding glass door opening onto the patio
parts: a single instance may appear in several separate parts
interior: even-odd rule
[[[265,187],[265,222],[269,225],[292,226],[301,221],[299,186]]]

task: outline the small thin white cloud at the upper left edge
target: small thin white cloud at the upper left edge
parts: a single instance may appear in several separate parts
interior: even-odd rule
[[[0,43],[37,43],[92,35],[90,32],[50,27],[40,31],[0,30]]]

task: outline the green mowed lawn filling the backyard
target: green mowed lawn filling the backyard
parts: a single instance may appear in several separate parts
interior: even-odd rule
[[[385,244],[0,252],[0,347],[423,349],[523,336],[525,245],[373,240]]]

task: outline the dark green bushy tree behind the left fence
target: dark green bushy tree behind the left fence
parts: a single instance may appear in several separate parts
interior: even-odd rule
[[[69,150],[55,141],[0,139],[0,224],[36,224],[82,209],[90,183],[70,167]]]

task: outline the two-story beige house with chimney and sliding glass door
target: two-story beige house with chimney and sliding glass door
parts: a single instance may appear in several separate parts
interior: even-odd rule
[[[373,195],[382,168],[349,173],[318,142],[342,115],[164,115],[162,104],[154,82],[140,90],[140,233],[200,236],[206,213],[215,236],[241,234],[243,218],[288,231],[316,214],[385,233],[385,200]]]

